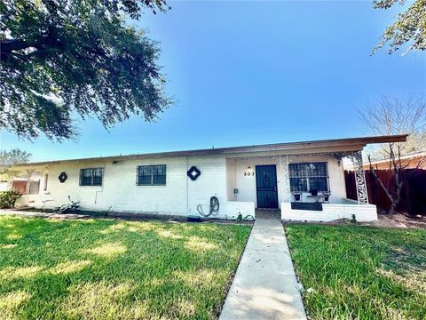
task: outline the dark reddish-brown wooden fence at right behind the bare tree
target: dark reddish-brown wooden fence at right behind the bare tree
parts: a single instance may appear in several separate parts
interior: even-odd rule
[[[390,201],[379,185],[375,177],[369,170],[366,170],[368,201],[385,210],[390,208]],[[389,170],[376,170],[375,173],[383,181],[383,184],[391,189],[394,183],[392,173]],[[426,215],[426,170],[406,169],[400,172],[404,186],[401,191],[401,201],[397,206],[398,211],[408,212],[412,215]],[[355,173],[344,172],[346,184],[346,195],[350,199],[358,200],[357,188],[355,184]],[[390,187],[390,188],[389,188]]]

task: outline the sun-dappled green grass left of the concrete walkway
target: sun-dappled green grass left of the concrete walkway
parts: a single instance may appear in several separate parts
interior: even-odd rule
[[[215,318],[249,232],[0,216],[0,317]]]

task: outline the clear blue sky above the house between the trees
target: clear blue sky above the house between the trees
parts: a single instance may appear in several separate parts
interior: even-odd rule
[[[177,103],[155,124],[107,132],[78,120],[79,139],[32,142],[0,132],[0,148],[33,161],[367,135],[356,108],[381,94],[426,92],[426,55],[370,56],[398,8],[371,2],[170,2],[139,28],[161,43]]]

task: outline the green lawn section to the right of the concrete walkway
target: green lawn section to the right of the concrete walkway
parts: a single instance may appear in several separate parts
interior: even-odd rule
[[[312,319],[426,319],[426,230],[288,225]]]

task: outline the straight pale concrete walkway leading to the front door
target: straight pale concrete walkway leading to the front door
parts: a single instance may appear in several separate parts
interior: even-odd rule
[[[306,319],[282,223],[260,215],[219,320]]]

